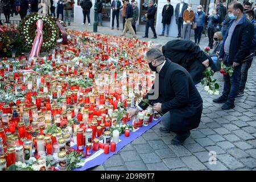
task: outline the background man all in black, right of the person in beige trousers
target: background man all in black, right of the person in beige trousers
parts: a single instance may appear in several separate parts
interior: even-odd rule
[[[152,37],[152,39],[156,39],[158,38],[156,36],[156,32],[155,32],[155,13],[156,13],[156,7],[154,6],[154,2],[152,0],[148,1],[148,9],[147,9],[147,14],[145,14],[146,18],[147,18],[147,22],[146,22],[146,30],[145,30],[145,36],[143,36],[143,38],[148,38],[148,28],[151,27],[151,30],[154,34],[154,37]]]

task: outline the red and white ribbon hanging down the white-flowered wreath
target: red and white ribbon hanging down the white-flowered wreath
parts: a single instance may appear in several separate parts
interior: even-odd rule
[[[36,26],[38,27],[38,33],[36,34],[36,37],[34,39],[34,43],[31,49],[30,60],[34,59],[34,56],[38,57],[42,43],[43,43],[43,20],[39,19],[36,22]]]

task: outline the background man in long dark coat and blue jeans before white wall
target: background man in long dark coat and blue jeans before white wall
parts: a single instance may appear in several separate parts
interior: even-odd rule
[[[162,34],[160,34],[159,36],[164,36],[164,31],[166,30],[166,27],[167,27],[166,36],[169,35],[169,26],[170,26],[171,18],[173,14],[174,14],[174,6],[170,4],[170,0],[167,0],[167,3],[166,5],[164,5],[163,11],[162,11],[163,31],[162,31]]]

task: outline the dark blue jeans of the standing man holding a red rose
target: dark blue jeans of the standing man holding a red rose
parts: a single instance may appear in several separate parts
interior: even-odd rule
[[[224,64],[227,65],[229,56],[224,55]],[[228,65],[230,66],[230,65]],[[237,97],[238,91],[240,89],[240,75],[241,75],[241,64],[234,68],[232,77],[229,75],[223,75],[224,78],[224,89],[222,92],[222,98],[227,100],[226,102],[233,104],[235,98]]]

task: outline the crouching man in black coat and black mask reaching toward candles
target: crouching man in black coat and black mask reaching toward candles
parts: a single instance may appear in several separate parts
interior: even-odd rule
[[[148,65],[156,75],[152,90],[147,98],[153,109],[163,114],[160,127],[163,133],[176,133],[172,144],[183,144],[190,135],[190,130],[199,126],[203,111],[203,100],[197,91],[188,71],[179,64],[166,59],[158,48],[152,48],[146,53]],[[133,118],[140,110],[147,108],[143,101],[136,109],[130,111]]]

